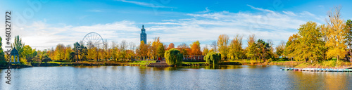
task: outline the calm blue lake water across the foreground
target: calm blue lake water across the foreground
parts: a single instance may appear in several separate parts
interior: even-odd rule
[[[11,69],[6,89],[352,89],[352,72],[281,71],[278,65],[149,68],[135,66]]]

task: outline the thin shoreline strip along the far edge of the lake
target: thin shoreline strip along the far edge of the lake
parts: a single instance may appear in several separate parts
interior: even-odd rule
[[[32,68],[32,67],[51,67],[51,66],[146,66],[155,63],[156,60],[137,60],[137,61],[82,61],[82,62],[42,62],[24,64],[12,64],[11,68]],[[208,66],[206,62],[183,62],[182,66]],[[231,60],[218,63],[218,65],[291,65],[291,68],[349,68],[352,65],[322,66],[319,63],[306,63],[304,61],[272,61],[264,63],[253,63],[243,60]],[[1,66],[0,69],[7,69]]]

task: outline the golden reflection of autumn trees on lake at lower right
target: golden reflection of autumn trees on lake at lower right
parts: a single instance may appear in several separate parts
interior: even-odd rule
[[[348,72],[289,72],[287,78],[294,89],[348,89],[347,75]]]

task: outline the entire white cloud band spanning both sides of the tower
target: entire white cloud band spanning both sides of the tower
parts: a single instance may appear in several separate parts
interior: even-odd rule
[[[250,6],[250,5],[248,5]],[[256,34],[258,39],[272,39],[274,44],[287,41],[291,34],[297,32],[299,25],[307,21],[320,22],[322,16],[309,12],[294,13],[291,11],[275,12],[263,8],[253,9],[264,13],[231,13],[228,11],[214,13],[188,13],[189,18],[161,20],[146,23],[147,41],[153,37],[161,37],[165,44],[199,40],[202,46],[218,39],[220,34],[228,34],[233,39],[235,34],[244,35],[243,44],[249,34]],[[4,27],[0,27],[0,29]],[[23,29],[21,29],[23,28]],[[139,44],[140,24],[123,20],[115,23],[71,26],[50,25],[45,21],[37,21],[25,27],[14,27],[13,34],[19,34],[25,44],[37,49],[55,47],[57,44],[73,44],[83,39],[89,32],[97,32],[111,41],[126,41]],[[3,33],[1,33],[1,36]],[[189,43],[190,44],[190,43]]]

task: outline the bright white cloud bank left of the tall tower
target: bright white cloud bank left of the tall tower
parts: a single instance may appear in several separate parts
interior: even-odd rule
[[[24,28],[24,29],[21,29]],[[49,25],[37,21],[25,27],[13,27],[13,35],[20,35],[26,45],[33,49],[51,49],[57,44],[70,44],[81,41],[89,32],[97,32],[108,41],[133,41],[139,42],[139,28],[131,21],[97,24],[91,26]],[[1,35],[2,36],[2,35]]]

